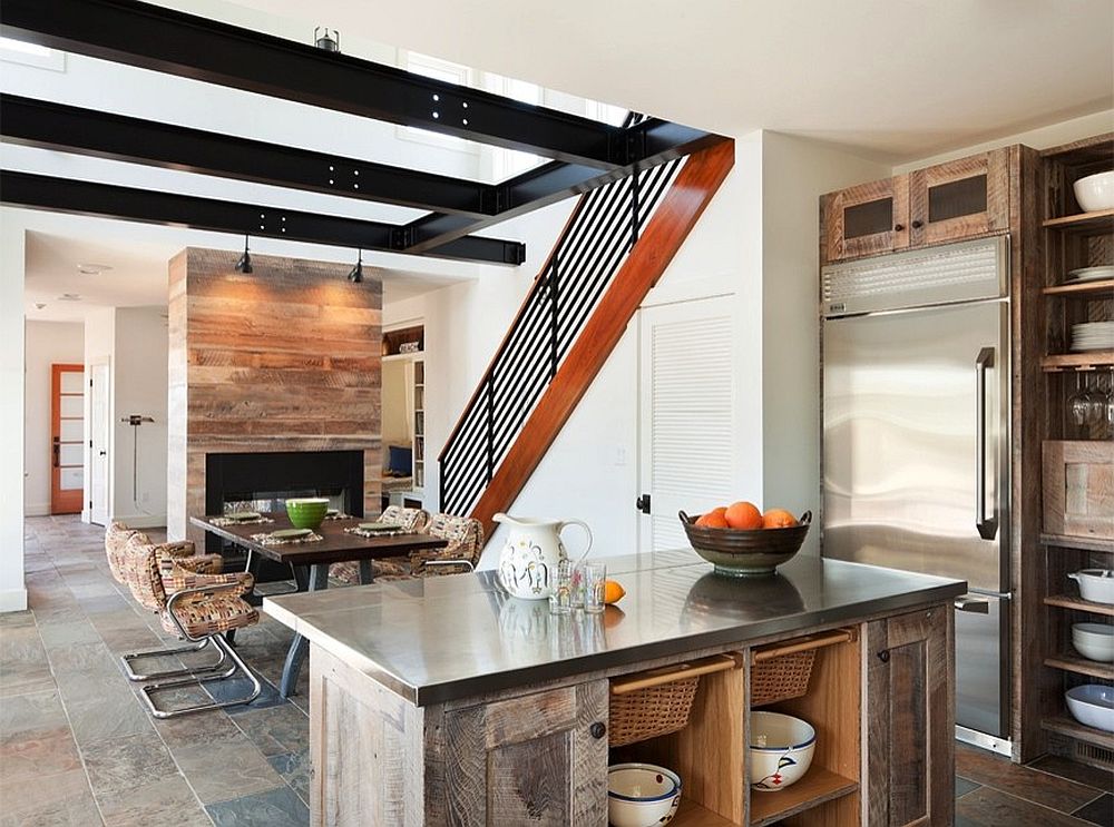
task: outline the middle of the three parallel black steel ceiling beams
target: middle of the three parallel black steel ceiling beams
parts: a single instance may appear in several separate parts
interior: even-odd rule
[[[0,96],[9,142],[417,209],[485,215],[490,185],[153,120]]]

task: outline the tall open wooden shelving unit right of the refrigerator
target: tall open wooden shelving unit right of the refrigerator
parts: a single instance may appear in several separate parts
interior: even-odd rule
[[[1065,283],[1069,272],[1079,267],[1114,265],[1114,209],[1086,213],[1075,200],[1072,184],[1093,173],[1114,167],[1114,134],[1076,141],[1040,154],[1042,282],[1045,325],[1040,367],[1045,382],[1045,405],[1038,421],[1045,441],[1101,441],[1110,439],[1102,424],[1077,425],[1068,414],[1068,400],[1078,386],[1097,385],[1107,390],[1114,381],[1114,349],[1067,352],[1072,326],[1082,322],[1114,319],[1114,279]],[[1107,384],[1104,384],[1107,383]],[[1035,413],[1035,412],[1030,412]],[[1057,451],[1059,443],[1046,442],[1052,462],[1066,462]],[[1055,480],[1055,469],[1043,469],[1046,484]],[[1053,482],[1055,484],[1055,482]],[[1068,505],[1053,501],[1045,511],[1045,532],[1035,551],[1040,555],[1044,580],[1045,619],[1042,662],[1047,670],[1043,686],[1040,728],[1048,751],[1065,755],[1095,766],[1114,765],[1114,735],[1078,723],[1067,709],[1064,692],[1083,683],[1114,685],[1114,666],[1081,657],[1072,647],[1072,624],[1081,621],[1112,622],[1114,606],[1095,603],[1078,597],[1069,572],[1088,568],[1114,567],[1114,538],[1068,535],[1052,523],[1067,525]],[[1073,506],[1075,508],[1075,506]],[[1076,522],[1076,525],[1079,523]],[[1058,533],[1057,533],[1058,532]],[[1082,534],[1082,532],[1081,532]]]

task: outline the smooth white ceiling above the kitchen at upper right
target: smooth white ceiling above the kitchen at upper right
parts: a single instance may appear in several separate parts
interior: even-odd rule
[[[899,163],[1108,109],[1111,0],[240,0],[726,135]],[[174,4],[188,8],[189,0]]]

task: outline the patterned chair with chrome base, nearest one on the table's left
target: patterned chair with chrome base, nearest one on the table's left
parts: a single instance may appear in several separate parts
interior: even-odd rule
[[[254,580],[246,572],[229,574],[197,574],[177,565],[177,559],[168,554],[158,544],[143,542],[135,536],[128,541],[124,553],[124,575],[131,594],[152,612],[159,614],[163,628],[189,641],[188,646],[155,651],[134,652],[123,656],[125,671],[131,680],[154,680],[143,687],[143,696],[150,713],[156,718],[172,718],[188,712],[201,712],[208,709],[251,703],[262,691],[258,678],[252,673],[247,664],[228,644],[224,636],[233,629],[240,629],[258,622],[258,612],[248,606],[243,595],[252,590]],[[164,583],[167,580],[185,584],[185,588],[167,592]],[[219,652],[219,658],[196,669],[176,669],[155,675],[138,675],[133,668],[133,661],[140,658],[182,654],[201,651],[213,646]],[[221,670],[225,660],[231,659],[232,666]],[[252,682],[252,692],[243,698],[227,701],[199,703],[178,709],[159,709],[153,695],[160,689],[199,686],[208,681],[225,680],[237,672]]]

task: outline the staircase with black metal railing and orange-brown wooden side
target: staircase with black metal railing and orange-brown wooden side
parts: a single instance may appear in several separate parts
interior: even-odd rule
[[[734,163],[734,142],[580,196],[438,456],[441,510],[490,536]]]

